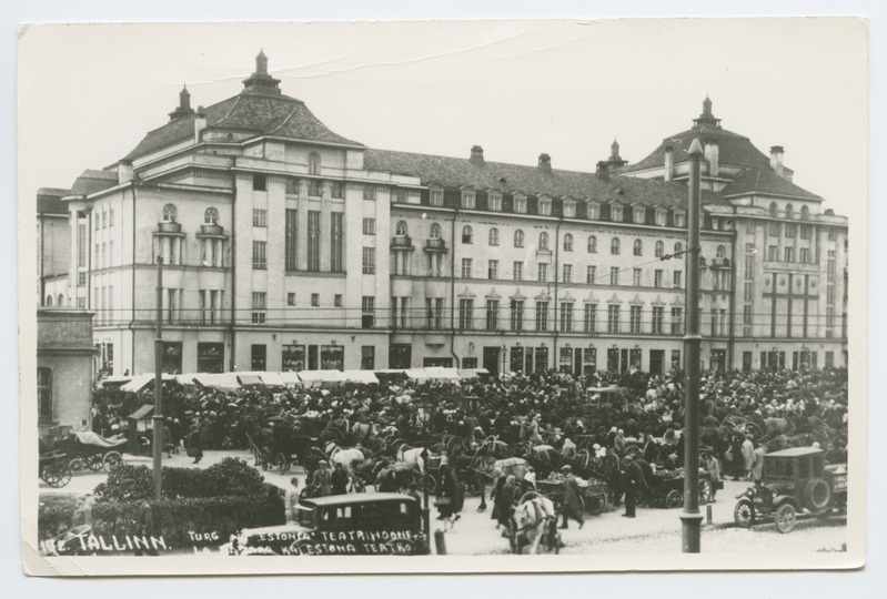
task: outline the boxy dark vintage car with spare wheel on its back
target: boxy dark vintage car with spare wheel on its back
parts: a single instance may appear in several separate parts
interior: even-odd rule
[[[825,451],[794,447],[764,456],[760,485],[737,496],[734,520],[749,528],[773,518],[776,530],[790,532],[804,510],[828,517],[847,507],[847,465],[825,464]]]

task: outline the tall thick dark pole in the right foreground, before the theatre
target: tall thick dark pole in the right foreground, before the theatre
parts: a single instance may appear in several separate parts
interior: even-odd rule
[[[699,213],[702,212],[699,140],[689,145],[687,219],[687,324],[684,334],[684,511],[681,514],[682,551],[699,552]]]

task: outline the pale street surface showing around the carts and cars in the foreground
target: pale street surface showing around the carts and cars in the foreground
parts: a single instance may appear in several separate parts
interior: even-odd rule
[[[191,464],[184,451],[165,458],[164,465],[187,468],[205,468],[221,461],[224,457],[239,457],[249,464],[253,463],[249,451],[205,451],[199,465]],[[143,464],[151,466],[150,457],[125,456],[129,464]],[[261,471],[261,470],[260,470]],[[53,489],[44,483],[40,484],[40,491],[48,494],[85,494],[95,485],[103,481],[104,474],[83,474],[74,476],[71,483],[61,488]],[[300,487],[304,485],[304,473],[296,467],[284,476],[276,471],[262,471],[264,479],[278,487],[285,488],[290,479],[295,476],[300,479]],[[717,500],[712,507],[712,526],[705,526],[703,531],[703,548],[706,551],[785,551],[785,550],[838,550],[846,536],[846,520],[836,518],[828,524],[817,520],[800,521],[797,529],[789,535],[779,535],[772,525],[760,525],[754,530],[742,530],[732,527],[733,507],[735,496],[742,493],[747,483],[726,480],[725,488],[718,491]],[[508,542],[495,529],[495,524],[490,518],[492,505],[487,500],[487,510],[478,512],[480,498],[466,497],[462,518],[452,530],[446,534],[447,551],[452,555],[488,555],[505,554]],[[705,515],[706,508],[703,507]],[[622,510],[608,510],[601,516],[587,516],[582,530],[571,522],[570,528],[562,530],[566,544],[564,552],[571,554],[598,554],[598,552],[679,552],[681,551],[681,509],[638,508],[637,518],[621,517]],[[432,512],[432,530],[440,527]],[[728,528],[725,528],[728,527]]]

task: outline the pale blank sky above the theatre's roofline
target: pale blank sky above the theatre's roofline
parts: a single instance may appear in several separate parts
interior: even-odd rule
[[[593,171],[637,162],[706,94],[723,126],[785,148],[795,182],[865,199],[867,30],[856,19],[37,26],[19,32],[19,183],[70,187],[192,106],[242,89],[263,49],[283,93],[371,148]],[[836,176],[838,175],[838,176]]]

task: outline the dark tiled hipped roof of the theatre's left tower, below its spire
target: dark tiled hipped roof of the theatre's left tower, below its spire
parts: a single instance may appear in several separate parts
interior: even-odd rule
[[[301,100],[288,95],[268,95],[244,91],[204,109],[206,126],[232,129],[260,134],[362,146],[330,131]],[[168,145],[188,140],[194,134],[194,120],[190,114],[150,131],[127,160],[150,154]]]

